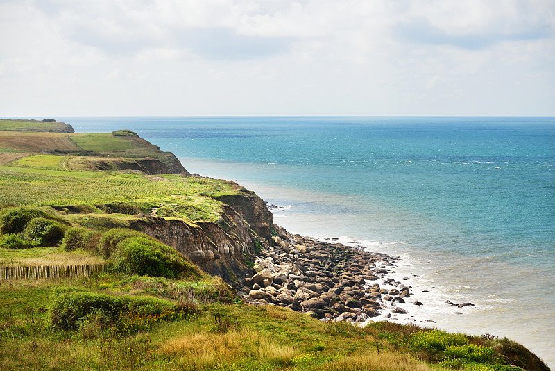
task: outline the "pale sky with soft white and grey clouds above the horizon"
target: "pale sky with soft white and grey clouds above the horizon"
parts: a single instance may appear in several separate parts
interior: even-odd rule
[[[0,116],[555,116],[555,0],[0,0]]]

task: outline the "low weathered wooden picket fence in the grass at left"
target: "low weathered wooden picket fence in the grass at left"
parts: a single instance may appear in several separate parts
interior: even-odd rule
[[[110,263],[85,265],[41,265],[28,267],[0,267],[0,280],[85,277],[106,272]]]

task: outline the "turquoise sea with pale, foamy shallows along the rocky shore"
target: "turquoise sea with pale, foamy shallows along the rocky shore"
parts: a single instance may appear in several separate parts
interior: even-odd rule
[[[508,337],[555,368],[555,117],[56,118],[133,130],[292,233],[398,256],[424,305],[390,320]]]

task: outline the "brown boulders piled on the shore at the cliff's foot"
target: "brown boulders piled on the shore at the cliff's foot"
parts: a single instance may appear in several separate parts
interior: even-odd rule
[[[278,226],[276,231],[273,243],[264,242],[257,255],[252,276],[244,280],[248,302],[284,306],[326,322],[406,319],[407,306],[424,305],[407,284],[411,277],[388,277],[395,273],[398,257],[311,240]]]

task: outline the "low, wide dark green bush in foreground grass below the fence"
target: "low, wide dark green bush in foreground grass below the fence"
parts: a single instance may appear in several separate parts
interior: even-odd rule
[[[154,297],[116,297],[74,288],[58,288],[51,296],[49,318],[56,329],[75,330],[96,322],[100,327],[118,324],[129,313],[159,315],[175,304]]]

